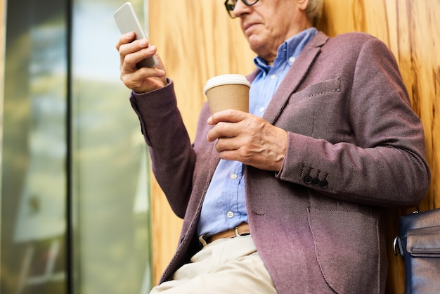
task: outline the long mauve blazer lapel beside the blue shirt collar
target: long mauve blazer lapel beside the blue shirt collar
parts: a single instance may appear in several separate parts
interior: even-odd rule
[[[311,39],[309,44],[304,47],[297,60],[295,60],[285,75],[283,82],[281,82],[275,94],[273,94],[271,102],[268,104],[268,108],[264,113],[264,120],[275,124],[276,119],[283,111],[285,103],[287,103],[292,93],[297,91],[299,84],[301,84],[307,72],[309,72],[311,65],[313,65],[314,60],[321,52],[321,46],[323,46],[328,39],[328,36],[323,32],[318,32],[316,37]]]

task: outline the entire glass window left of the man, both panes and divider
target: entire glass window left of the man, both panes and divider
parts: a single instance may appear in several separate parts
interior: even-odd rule
[[[132,2],[143,19],[148,2]],[[0,293],[151,288],[148,154],[119,80],[121,5],[8,1]]]

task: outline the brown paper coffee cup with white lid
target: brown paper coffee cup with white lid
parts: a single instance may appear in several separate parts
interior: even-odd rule
[[[250,82],[244,75],[218,75],[208,79],[203,88],[211,113],[235,109],[249,112]]]

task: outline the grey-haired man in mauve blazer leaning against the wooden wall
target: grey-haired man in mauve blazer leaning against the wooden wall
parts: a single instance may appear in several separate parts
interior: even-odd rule
[[[205,104],[193,143],[160,57],[136,68],[156,47],[117,42],[153,172],[184,218],[152,293],[384,293],[384,207],[417,205],[430,180],[392,53],[318,32],[322,0],[225,6],[257,53],[250,113]]]

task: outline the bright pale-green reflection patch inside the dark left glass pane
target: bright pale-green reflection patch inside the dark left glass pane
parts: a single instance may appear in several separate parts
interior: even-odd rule
[[[29,160],[15,221],[17,242],[65,232],[65,28],[42,24],[30,30],[30,39]]]

